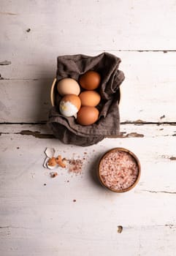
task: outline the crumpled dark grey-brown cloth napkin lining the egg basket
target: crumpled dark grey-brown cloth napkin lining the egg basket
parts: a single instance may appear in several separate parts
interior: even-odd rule
[[[59,113],[61,97],[57,95],[47,122],[56,138],[66,144],[91,146],[108,135],[119,135],[119,86],[125,78],[118,69],[119,64],[120,59],[110,53],[101,53],[99,56],[58,56],[57,80],[74,78],[78,81],[79,76],[88,70],[99,72],[101,84],[96,91],[101,94],[102,100],[97,106],[99,120],[95,124],[82,126],[77,124],[73,116],[64,117]]]

